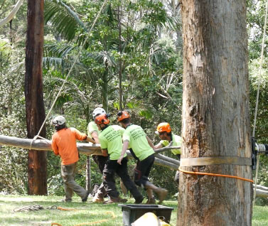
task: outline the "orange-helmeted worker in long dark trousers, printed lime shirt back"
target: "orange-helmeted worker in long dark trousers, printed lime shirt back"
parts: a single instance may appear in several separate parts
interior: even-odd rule
[[[124,154],[121,164],[117,163],[117,159],[122,151],[122,134],[124,133],[124,129],[117,125],[109,125],[107,114],[100,114],[95,117],[95,123],[98,129],[101,130],[99,141],[102,153],[108,156],[103,170],[103,184],[110,198],[106,203],[127,202],[127,199],[122,199],[119,196],[114,181],[114,173],[117,173],[127,190],[132,193],[135,203],[142,203],[144,197],[139,193],[139,190],[136,188],[135,183],[130,179],[127,172],[127,154]]]

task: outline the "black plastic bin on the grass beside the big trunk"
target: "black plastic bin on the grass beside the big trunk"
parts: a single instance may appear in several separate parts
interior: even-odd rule
[[[119,204],[119,206],[122,207],[124,226],[131,226],[135,220],[144,215],[146,212],[154,212],[157,217],[164,217],[163,220],[169,223],[171,220],[171,211],[174,210],[174,208],[164,205]]]

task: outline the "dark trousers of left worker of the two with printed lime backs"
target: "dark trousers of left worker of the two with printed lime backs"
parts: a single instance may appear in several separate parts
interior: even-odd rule
[[[114,173],[117,173],[117,175],[122,179],[127,190],[132,193],[135,199],[141,198],[141,193],[139,193],[139,190],[136,188],[136,185],[130,179],[129,174],[127,173],[127,161],[127,157],[125,157],[122,159],[121,165],[119,165],[117,160],[108,160],[104,167],[104,188],[106,189],[107,194],[112,198],[117,198],[119,196],[119,192],[117,191],[114,181]]]

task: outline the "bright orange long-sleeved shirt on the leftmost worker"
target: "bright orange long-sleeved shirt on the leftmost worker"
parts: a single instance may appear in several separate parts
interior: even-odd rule
[[[61,164],[69,165],[78,161],[76,140],[85,140],[87,134],[82,134],[75,128],[60,129],[52,136],[52,149],[55,155],[60,155]]]

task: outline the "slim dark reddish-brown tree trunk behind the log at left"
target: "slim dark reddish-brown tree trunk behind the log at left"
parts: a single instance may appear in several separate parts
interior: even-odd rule
[[[28,138],[33,138],[38,134],[45,119],[42,80],[43,6],[43,0],[28,0],[24,87]],[[45,137],[45,128],[40,136]],[[45,151],[30,150],[28,152],[28,194],[47,194]]]

